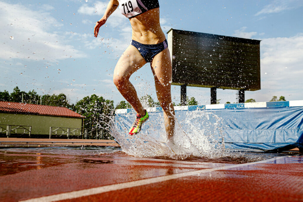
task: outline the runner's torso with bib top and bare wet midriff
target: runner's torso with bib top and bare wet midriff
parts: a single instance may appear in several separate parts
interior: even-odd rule
[[[118,0],[123,15],[132,25],[132,40],[142,44],[158,44],[165,40],[160,26],[158,0]],[[143,6],[145,8],[143,8]]]

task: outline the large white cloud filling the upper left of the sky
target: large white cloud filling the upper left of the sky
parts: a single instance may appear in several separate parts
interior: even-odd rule
[[[3,33],[0,36],[0,58],[56,61],[85,57],[82,51],[66,44],[64,35],[53,31],[62,24],[50,13],[5,2],[0,2],[0,7],[0,29]]]

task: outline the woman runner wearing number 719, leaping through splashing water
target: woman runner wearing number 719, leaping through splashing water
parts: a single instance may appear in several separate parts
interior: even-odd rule
[[[150,62],[155,78],[155,87],[159,103],[164,111],[165,130],[168,139],[174,135],[175,111],[171,101],[171,60],[165,35],[160,27],[158,0],[111,0],[103,17],[96,22],[94,36],[99,28],[119,6],[123,15],[132,25],[132,42],[124,51],[114,70],[114,83],[122,96],[137,112],[135,123],[129,134],[140,132],[142,124],[148,119],[148,112],[143,108],[130,76],[146,63]]]

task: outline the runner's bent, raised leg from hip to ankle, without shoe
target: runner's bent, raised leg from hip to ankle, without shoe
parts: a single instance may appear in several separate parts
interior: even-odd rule
[[[122,96],[132,105],[140,115],[145,115],[144,109],[138,98],[134,86],[129,81],[130,76],[143,65],[146,61],[139,53],[137,48],[129,45],[124,51],[114,70],[114,83]]]

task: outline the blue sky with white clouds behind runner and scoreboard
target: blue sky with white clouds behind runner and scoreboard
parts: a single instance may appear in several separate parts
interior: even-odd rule
[[[115,104],[124,98],[112,81],[120,55],[131,40],[128,18],[117,9],[93,35],[108,1],[0,0],[0,91],[67,95],[76,103],[96,94]],[[159,0],[160,23],[170,28],[261,40],[261,90],[246,99],[273,96],[303,100],[302,0]],[[156,100],[149,63],[130,81],[139,97]],[[237,91],[217,89],[220,103],[237,102]],[[210,104],[210,89],[187,87],[187,96]],[[172,85],[180,103],[180,86]]]

